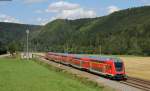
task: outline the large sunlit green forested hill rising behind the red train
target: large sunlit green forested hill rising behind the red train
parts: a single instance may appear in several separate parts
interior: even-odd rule
[[[150,6],[94,19],[58,19],[32,40],[37,50],[150,55]]]

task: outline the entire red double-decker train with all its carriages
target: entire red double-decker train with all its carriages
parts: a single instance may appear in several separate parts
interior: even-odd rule
[[[48,52],[45,58],[62,64],[71,65],[79,69],[88,70],[110,79],[127,79],[124,62],[119,58],[84,57],[76,54],[63,54],[53,52]]]

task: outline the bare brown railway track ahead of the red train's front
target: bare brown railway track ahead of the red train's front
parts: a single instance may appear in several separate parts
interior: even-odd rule
[[[143,79],[128,77],[128,80],[120,81],[120,83],[141,89],[143,91],[150,91],[150,81],[146,81]]]

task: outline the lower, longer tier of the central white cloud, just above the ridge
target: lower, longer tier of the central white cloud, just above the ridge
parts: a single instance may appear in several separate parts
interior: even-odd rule
[[[94,18],[96,17],[96,13],[92,10],[84,10],[82,8],[74,9],[74,10],[63,10],[62,12],[58,13],[56,16],[50,18],[37,18],[37,21],[41,25],[45,25],[48,22],[51,22],[56,19],[79,19],[79,18]]]

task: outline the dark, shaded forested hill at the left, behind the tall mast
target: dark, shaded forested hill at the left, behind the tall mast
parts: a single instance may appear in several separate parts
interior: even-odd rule
[[[26,30],[31,34],[39,30],[41,26],[0,22],[0,53],[8,49],[8,45],[14,43],[18,50],[23,48],[23,40],[26,38]]]

